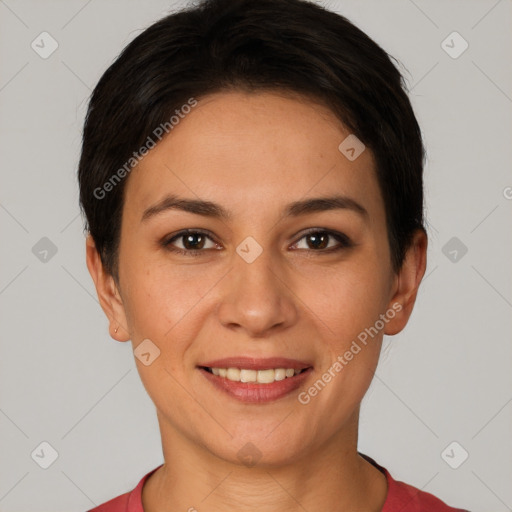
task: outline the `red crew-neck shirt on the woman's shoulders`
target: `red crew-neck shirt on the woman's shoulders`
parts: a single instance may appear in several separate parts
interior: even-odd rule
[[[382,512],[468,512],[460,508],[449,507],[432,494],[394,480],[385,468],[379,466],[369,457],[365,456],[365,458],[386,475],[388,494]],[[144,512],[142,508],[142,486],[159,467],[161,466],[145,475],[133,491],[122,494],[88,512]]]

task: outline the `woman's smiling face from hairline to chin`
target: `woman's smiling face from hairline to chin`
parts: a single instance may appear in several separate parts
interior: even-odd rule
[[[136,361],[164,443],[278,464],[355,442],[382,334],[409,310],[374,159],[369,149],[354,159],[351,139],[342,152],[349,135],[308,100],[219,93],[132,171],[111,316],[134,349],[150,340]],[[203,368],[224,358],[218,367],[307,371],[242,372],[283,379],[251,384]]]

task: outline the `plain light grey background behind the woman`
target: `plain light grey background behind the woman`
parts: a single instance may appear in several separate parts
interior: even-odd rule
[[[162,462],[130,344],[109,337],[87,272],[75,176],[92,87],[184,4],[0,0],[2,512],[83,511]],[[359,449],[451,505],[511,510],[511,2],[324,4],[404,63],[428,150],[427,275],[386,338]],[[47,59],[31,48],[43,31],[59,45]],[[458,58],[441,46],[453,31],[469,43]],[[48,469],[31,457],[43,441],[58,452]],[[442,457],[453,441],[452,464],[469,453],[458,469]]]

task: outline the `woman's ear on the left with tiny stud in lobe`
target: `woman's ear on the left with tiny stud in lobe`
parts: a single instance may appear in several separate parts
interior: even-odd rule
[[[85,251],[87,268],[96,286],[101,308],[109,320],[110,336],[117,341],[128,341],[130,333],[126,327],[126,313],[121,295],[114,278],[105,271],[91,235],[87,236]]]

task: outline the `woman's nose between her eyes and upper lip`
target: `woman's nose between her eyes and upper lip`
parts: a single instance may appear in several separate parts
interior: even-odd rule
[[[223,326],[262,338],[297,321],[297,298],[270,250],[264,250],[252,263],[235,254],[234,268],[226,277],[217,309]]]

